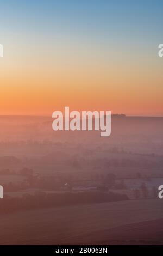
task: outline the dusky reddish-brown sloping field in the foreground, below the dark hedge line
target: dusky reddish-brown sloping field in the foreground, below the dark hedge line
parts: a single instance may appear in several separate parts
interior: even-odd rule
[[[131,224],[136,227],[137,237],[140,234],[143,240],[141,231],[143,222],[146,223],[145,230],[149,229],[145,234],[147,242],[152,241],[154,231],[155,236],[156,234],[159,236],[156,231],[161,231],[159,224],[155,224],[153,229],[150,221],[161,218],[163,218],[163,204],[159,199],[30,210],[1,215],[0,243],[1,245],[111,244],[113,243],[111,237],[114,243],[122,243],[123,238],[123,243],[128,243],[130,232],[133,232],[132,226],[129,226]],[[146,221],[149,221],[149,225]]]

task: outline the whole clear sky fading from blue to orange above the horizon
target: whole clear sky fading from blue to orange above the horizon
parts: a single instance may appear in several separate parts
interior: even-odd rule
[[[162,1],[0,0],[0,115],[163,115]]]

